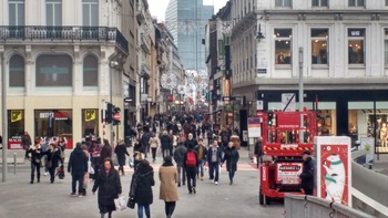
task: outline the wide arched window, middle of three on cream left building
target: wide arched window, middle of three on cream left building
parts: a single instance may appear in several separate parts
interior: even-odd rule
[[[73,62],[69,55],[40,55],[35,72],[37,86],[72,86]]]

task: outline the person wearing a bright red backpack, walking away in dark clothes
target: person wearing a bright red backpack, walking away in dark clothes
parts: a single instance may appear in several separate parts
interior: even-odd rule
[[[184,167],[186,169],[188,194],[196,194],[196,168],[198,164],[198,154],[194,150],[194,145],[190,145],[184,155]]]

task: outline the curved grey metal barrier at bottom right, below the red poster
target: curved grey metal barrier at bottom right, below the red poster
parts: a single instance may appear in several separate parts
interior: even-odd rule
[[[376,218],[360,210],[315,196],[286,195],[285,218]]]

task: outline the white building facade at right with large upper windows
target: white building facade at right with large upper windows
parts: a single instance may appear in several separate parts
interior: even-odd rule
[[[232,8],[233,34],[244,35],[232,37],[233,93],[263,101],[264,110],[283,110],[282,93],[299,98],[302,71],[303,106],[319,102],[323,135],[376,136],[385,147],[386,1],[232,0]],[[249,11],[256,11],[256,31],[242,32],[238,21],[251,20]],[[233,49],[252,45],[249,54]]]

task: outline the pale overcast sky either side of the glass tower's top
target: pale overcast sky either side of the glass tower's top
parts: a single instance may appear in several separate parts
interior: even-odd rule
[[[149,0],[151,15],[157,21],[164,21],[164,13],[170,0]],[[205,6],[214,6],[214,13],[226,4],[227,0],[204,0]]]

